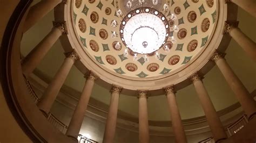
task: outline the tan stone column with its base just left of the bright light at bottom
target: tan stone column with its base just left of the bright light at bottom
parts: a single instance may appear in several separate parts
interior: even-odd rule
[[[87,109],[87,105],[89,103],[89,99],[91,96],[92,88],[97,79],[97,76],[92,72],[85,75],[86,82],[84,84],[84,88],[82,90],[82,94],[77,103],[76,109],[73,113],[71,121],[69,123],[68,130],[66,131],[66,135],[77,140],[78,134],[80,132],[80,128],[82,126],[84,115]]]

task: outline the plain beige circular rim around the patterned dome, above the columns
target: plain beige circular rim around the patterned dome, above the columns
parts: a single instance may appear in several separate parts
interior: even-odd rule
[[[82,73],[85,73],[85,71],[87,71],[87,70],[91,70],[93,73],[95,73],[97,76],[99,76],[100,80],[102,80],[108,84],[119,85],[120,87],[123,87],[124,89],[127,89],[127,90],[159,90],[159,89],[162,89],[169,85],[176,85],[176,84],[179,84],[179,88],[180,87],[183,88],[183,87],[186,87],[187,85],[191,84],[191,82],[189,82],[189,83],[187,82],[188,78],[191,75],[193,75],[194,73],[200,71],[200,69],[202,69],[204,66],[206,66],[206,63],[208,63],[212,54],[216,51],[216,49],[219,48],[219,44],[223,37],[224,23],[227,20],[226,3],[222,2],[222,1],[220,2],[220,0],[218,0],[217,1],[217,17],[218,18],[217,18],[216,24],[214,25],[214,32],[211,34],[210,39],[206,43],[207,48],[205,48],[204,51],[202,51],[200,54],[198,54],[197,58],[194,58],[193,60],[191,60],[189,63],[186,64],[186,66],[181,67],[181,68],[183,68],[182,70],[176,70],[176,72],[173,72],[170,74],[160,75],[160,76],[157,76],[157,78],[156,77],[136,78],[136,77],[130,77],[130,76],[124,76],[124,75],[121,76],[121,75],[117,75],[114,72],[106,71],[103,67],[97,65],[97,61],[91,60],[89,55],[84,52],[84,48],[76,48],[78,46],[82,47],[82,43],[78,40],[76,31],[74,31],[75,27],[73,25],[72,14],[71,14],[72,9],[73,9],[73,3],[68,2],[64,8],[64,10],[65,10],[64,16],[62,16],[62,18],[60,18],[61,20],[65,20],[68,25],[67,28],[68,28],[69,34],[67,35],[66,38],[64,38],[65,41],[61,40],[61,41],[64,41],[62,45],[63,45],[63,48],[65,49],[65,51],[71,51],[71,49],[73,49],[72,47],[75,47],[74,49],[77,51],[77,53],[80,57],[80,61],[75,63],[75,65],[80,71],[82,71]],[[222,15],[219,15],[219,13],[222,13]],[[229,18],[229,19],[232,19],[232,18]],[[235,19],[236,19],[236,17],[235,17]],[[71,26],[69,26],[69,25],[71,25]],[[218,34],[216,34],[216,31],[218,31]],[[221,36],[219,36],[219,35],[221,35]],[[213,38],[215,38],[214,40],[216,41],[216,42],[214,42],[214,44],[212,44],[210,42],[213,40]],[[62,38],[60,38],[60,39],[62,39]],[[66,45],[67,40],[69,42],[72,41],[72,42],[70,42],[70,45]],[[229,41],[228,41],[228,43],[229,43]],[[210,48],[208,48],[209,45],[211,47],[214,47],[214,48],[211,48],[212,50],[210,50],[210,51],[209,51]],[[221,46],[223,46],[223,45],[221,45]],[[221,47],[221,49],[225,49],[225,48],[226,47]],[[205,51],[207,51],[208,54],[205,54]],[[85,53],[85,54],[82,54],[82,53]],[[84,55],[86,55],[86,56],[84,56]],[[202,55],[204,55],[204,60],[202,60],[202,57],[203,57]],[[194,66],[196,63],[195,61],[197,61],[199,58],[202,60],[199,64],[199,66],[196,66],[197,68],[194,68],[193,70],[191,70],[190,66],[191,65]],[[94,66],[95,64],[97,65],[96,67]],[[190,67],[190,68],[187,68],[187,67]],[[212,67],[213,67],[213,65],[210,64],[210,66],[207,66],[206,69],[201,71],[201,74],[202,75],[206,74],[208,72],[208,70],[210,70]],[[190,71],[188,71],[186,74],[184,74],[184,70],[187,70],[187,69],[189,69]],[[180,74],[181,72],[179,74],[177,74],[178,71],[182,71],[183,76],[181,76],[181,74]],[[142,81],[144,82],[143,85],[141,84]],[[103,83],[103,82],[100,82],[100,83]],[[183,85],[181,85],[181,84],[183,84]]]

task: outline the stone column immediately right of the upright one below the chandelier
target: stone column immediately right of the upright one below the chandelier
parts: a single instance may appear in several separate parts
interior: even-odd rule
[[[167,101],[169,104],[169,110],[171,114],[172,120],[172,128],[175,135],[175,142],[187,142],[185,131],[181,122],[181,117],[179,114],[179,109],[177,106],[176,98],[175,98],[175,91],[173,87],[166,87],[164,88],[165,94],[167,97]]]

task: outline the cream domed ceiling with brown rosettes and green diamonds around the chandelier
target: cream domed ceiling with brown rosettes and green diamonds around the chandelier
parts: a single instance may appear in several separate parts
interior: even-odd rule
[[[125,1],[107,0],[76,0],[73,2],[73,24],[76,29],[80,45],[90,58],[108,72],[130,77],[155,77],[171,74],[187,67],[207,47],[214,32],[216,22],[217,1],[215,0],[172,0],[159,1],[157,9],[163,8],[163,4],[169,4],[166,18],[171,19],[171,13],[177,16],[169,25],[177,25],[179,31],[169,33],[169,40],[173,36],[177,39],[176,44],[171,45],[170,52],[166,53],[163,48],[159,49],[160,59],[157,60],[155,53],[149,55],[149,62],[144,62],[142,56],[133,60],[133,52],[124,57],[126,48],[118,35],[112,38],[112,32],[119,33],[122,19],[117,16],[116,10],[120,7],[127,13]],[[160,6],[159,6],[160,5]],[[112,20],[116,20],[117,27],[112,27]],[[120,42],[122,48],[116,49],[115,44]]]

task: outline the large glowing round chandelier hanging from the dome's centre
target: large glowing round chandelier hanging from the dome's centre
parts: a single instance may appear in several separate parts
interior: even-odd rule
[[[149,55],[155,55],[160,60],[159,49],[163,48],[165,52],[170,52],[170,48],[176,43],[176,39],[172,36],[169,38],[170,31],[178,32],[176,25],[169,25],[170,20],[174,22],[177,19],[173,13],[169,19],[166,18],[164,12],[167,13],[169,5],[164,4],[162,10],[154,9],[158,4],[158,0],[152,0],[152,7],[143,6],[146,0],[129,0],[126,7],[130,12],[126,16],[120,9],[116,13],[120,21],[119,35],[125,45],[124,57],[130,53],[133,60],[138,60],[138,56],[143,56],[144,62],[148,62]],[[133,4],[139,8],[132,9]],[[116,20],[111,22],[112,27],[117,27]],[[118,37],[116,31],[112,32],[112,38]],[[171,42],[171,44],[170,44]],[[121,48],[120,42],[114,45],[116,49]]]

